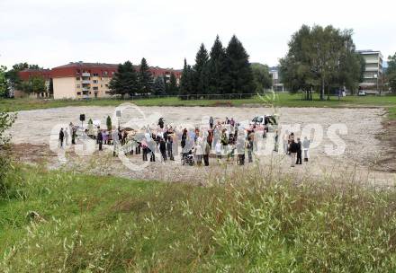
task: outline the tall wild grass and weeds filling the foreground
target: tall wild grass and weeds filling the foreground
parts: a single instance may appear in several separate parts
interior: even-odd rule
[[[254,171],[202,188],[17,167],[0,271],[394,272],[396,192],[332,183]]]

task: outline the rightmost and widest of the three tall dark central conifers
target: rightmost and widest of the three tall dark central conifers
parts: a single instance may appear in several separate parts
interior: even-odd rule
[[[225,82],[225,93],[254,92],[253,73],[248,55],[242,43],[234,35],[226,49],[226,64],[229,67]]]

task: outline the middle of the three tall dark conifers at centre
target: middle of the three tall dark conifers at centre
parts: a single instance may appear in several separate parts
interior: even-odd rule
[[[209,55],[210,59],[207,67],[208,90],[210,93],[223,93],[225,76],[227,74],[227,57],[219,35],[216,36]]]

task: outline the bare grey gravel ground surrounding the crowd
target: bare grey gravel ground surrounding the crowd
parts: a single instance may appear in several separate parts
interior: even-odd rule
[[[233,117],[238,121],[250,120],[256,115],[273,113],[269,108],[229,108],[229,107],[139,107],[139,110],[122,111],[121,125],[129,120],[144,116],[145,124],[155,124],[158,117],[164,117],[166,123],[174,126],[195,126],[205,123],[208,116],[214,119]],[[291,169],[288,156],[284,154],[267,154],[257,158],[256,163],[244,167],[237,166],[233,161],[217,163],[211,158],[210,167],[182,166],[175,162],[149,163],[143,171],[130,171],[123,166],[117,157],[112,157],[111,147],[107,152],[95,151],[91,156],[78,156],[67,146],[67,163],[58,161],[57,152],[49,150],[51,130],[58,124],[66,126],[69,122],[80,124],[80,113],[86,119],[100,119],[104,127],[108,115],[112,117],[112,107],[66,107],[47,110],[20,111],[11,133],[14,142],[14,154],[23,162],[37,163],[43,158],[49,168],[70,168],[81,172],[120,175],[122,177],[160,180],[187,181],[204,183],[208,179],[221,180],[226,172],[245,172],[255,164],[275,166],[279,172],[297,173],[301,176],[340,176],[351,175],[351,179],[360,179],[374,183],[391,185],[395,175],[392,167],[383,163],[391,150],[389,141],[377,137],[385,132],[383,128],[382,109],[328,109],[328,108],[280,108],[281,126],[301,124],[302,128],[309,124],[319,124],[323,128],[323,140],[320,145],[311,149],[309,163],[303,163]],[[114,119],[113,119],[114,120]],[[133,123],[133,122],[132,122]],[[329,140],[329,126],[342,123],[347,126],[347,135],[338,135],[346,143],[344,154],[333,156],[325,153],[324,146],[333,144]],[[299,136],[298,130],[294,130]],[[55,137],[58,129],[54,130]],[[52,133],[54,134],[54,133]],[[129,155],[131,163],[139,165],[141,155]],[[388,160],[389,162],[389,160]],[[381,168],[378,168],[379,164]],[[381,172],[374,171],[381,169]]]

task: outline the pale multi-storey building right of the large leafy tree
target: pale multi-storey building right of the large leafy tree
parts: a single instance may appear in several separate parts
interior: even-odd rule
[[[383,55],[376,50],[357,50],[365,58],[365,75],[359,86],[364,90],[378,91],[383,78]]]

